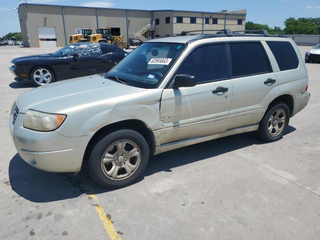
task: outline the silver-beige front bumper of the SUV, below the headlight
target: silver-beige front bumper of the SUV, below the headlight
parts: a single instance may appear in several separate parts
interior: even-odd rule
[[[18,154],[25,162],[45,171],[80,170],[92,135],[65,137],[56,131],[34,131],[23,127],[23,118],[24,114],[19,113],[13,125],[10,116],[9,128]]]

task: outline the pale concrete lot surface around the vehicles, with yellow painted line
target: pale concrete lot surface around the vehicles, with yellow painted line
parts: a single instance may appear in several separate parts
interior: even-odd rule
[[[14,148],[9,111],[33,87],[9,61],[48,51],[0,47],[0,239],[319,239],[320,64],[307,64],[309,103],[279,141],[251,132],[168,151],[107,190],[85,171],[33,168]]]

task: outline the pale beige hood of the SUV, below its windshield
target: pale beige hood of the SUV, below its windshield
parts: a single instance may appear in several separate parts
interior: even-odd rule
[[[72,106],[141,91],[145,89],[91,75],[39,86],[22,93],[15,103],[21,113],[28,109],[63,113],[64,109]]]

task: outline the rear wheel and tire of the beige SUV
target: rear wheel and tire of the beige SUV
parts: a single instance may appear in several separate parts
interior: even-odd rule
[[[257,135],[267,142],[280,139],[289,124],[289,118],[290,110],[287,104],[274,102],[267,108],[260,121]]]

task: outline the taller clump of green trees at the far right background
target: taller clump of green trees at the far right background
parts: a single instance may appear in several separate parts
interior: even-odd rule
[[[320,17],[289,17],[284,25],[285,34],[320,34]]]

